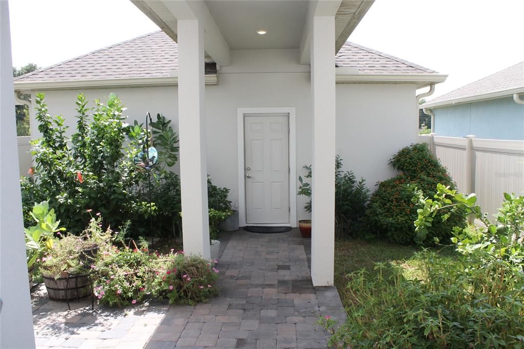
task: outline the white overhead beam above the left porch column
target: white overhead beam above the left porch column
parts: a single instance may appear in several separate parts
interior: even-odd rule
[[[220,66],[231,64],[230,47],[203,1],[166,0],[163,1],[163,4],[177,20],[198,20],[204,27],[205,52]],[[172,30],[178,31],[177,28],[172,28]]]

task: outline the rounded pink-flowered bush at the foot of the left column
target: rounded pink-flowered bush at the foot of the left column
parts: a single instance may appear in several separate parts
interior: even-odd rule
[[[153,294],[168,298],[170,303],[206,302],[217,294],[218,272],[212,263],[198,256],[183,253],[162,256],[162,268],[155,279]]]

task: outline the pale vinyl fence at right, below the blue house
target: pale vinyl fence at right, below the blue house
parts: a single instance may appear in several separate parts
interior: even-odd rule
[[[524,141],[477,139],[475,136],[419,136],[457,183],[459,191],[475,193],[491,220],[504,193],[524,195]]]

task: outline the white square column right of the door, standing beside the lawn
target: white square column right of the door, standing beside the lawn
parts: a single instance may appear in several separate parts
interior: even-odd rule
[[[311,278],[314,286],[331,286],[335,247],[335,17],[314,16],[312,24]]]

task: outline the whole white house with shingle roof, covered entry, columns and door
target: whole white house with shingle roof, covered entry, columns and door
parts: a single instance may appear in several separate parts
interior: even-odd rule
[[[15,90],[45,92],[73,128],[81,92],[117,93],[130,121],[172,119],[184,250],[204,257],[207,173],[231,189],[241,226],[296,226],[308,218],[297,178],[312,163],[311,274],[332,285],[335,155],[370,188],[394,176],[388,159],[417,141],[416,90],[446,75],[346,42],[372,1],[133,3],[162,31],[26,74]],[[34,108],[31,123],[38,136]]]

